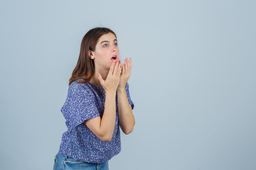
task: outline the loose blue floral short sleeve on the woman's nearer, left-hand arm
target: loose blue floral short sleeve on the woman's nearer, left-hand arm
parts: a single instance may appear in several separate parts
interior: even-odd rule
[[[61,108],[68,129],[75,128],[87,119],[100,116],[96,98],[88,91],[82,84],[70,84],[67,99]]]

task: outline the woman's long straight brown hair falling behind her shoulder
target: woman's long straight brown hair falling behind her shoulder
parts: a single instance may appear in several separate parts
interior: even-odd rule
[[[76,67],[72,72],[72,76],[70,77],[68,86],[70,86],[70,84],[74,82],[76,79],[83,79],[77,81],[77,83],[90,82],[90,79],[92,78],[92,75],[95,71],[95,66],[94,60],[92,60],[88,55],[88,51],[95,51],[95,46],[101,35],[107,34],[109,32],[113,33],[117,38],[117,35],[114,33],[114,31],[105,27],[96,27],[90,29],[84,35],[81,42],[79,58]]]

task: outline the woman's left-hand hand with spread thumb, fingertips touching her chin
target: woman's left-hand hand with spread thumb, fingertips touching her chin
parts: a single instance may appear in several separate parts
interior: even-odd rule
[[[101,83],[105,91],[112,91],[112,92],[117,91],[117,87],[120,81],[121,70],[122,70],[121,60],[118,59],[118,61],[112,62],[112,65],[109,69],[106,80],[103,80],[101,75],[97,73],[99,82]]]

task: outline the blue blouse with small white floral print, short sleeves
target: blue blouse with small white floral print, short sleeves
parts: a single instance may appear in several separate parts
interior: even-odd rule
[[[63,133],[59,153],[79,161],[103,163],[121,151],[120,126],[118,121],[118,99],[116,94],[116,122],[110,142],[101,141],[83,122],[104,113],[106,93],[103,87],[88,83],[72,82],[67,99],[61,108],[66,119],[67,131]],[[128,82],[125,86],[132,109]]]

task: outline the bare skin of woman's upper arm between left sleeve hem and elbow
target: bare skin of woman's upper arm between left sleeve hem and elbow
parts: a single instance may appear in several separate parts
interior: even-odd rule
[[[105,135],[101,130],[101,117],[94,117],[92,119],[88,119],[84,121],[84,124],[102,141],[108,142]]]

